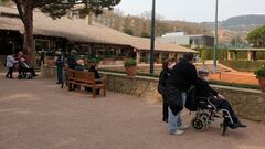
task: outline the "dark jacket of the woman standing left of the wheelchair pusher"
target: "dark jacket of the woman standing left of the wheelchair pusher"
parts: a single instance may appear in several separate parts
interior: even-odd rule
[[[167,91],[167,79],[170,75],[170,71],[169,70],[162,70],[160,72],[160,75],[159,75],[159,82],[158,82],[158,92],[160,94],[166,94],[166,91]]]

